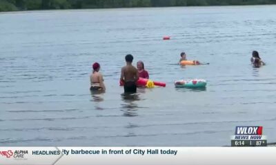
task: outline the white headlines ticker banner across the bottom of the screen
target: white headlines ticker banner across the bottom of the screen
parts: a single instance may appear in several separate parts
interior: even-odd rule
[[[276,147],[0,147],[1,165],[276,164]]]

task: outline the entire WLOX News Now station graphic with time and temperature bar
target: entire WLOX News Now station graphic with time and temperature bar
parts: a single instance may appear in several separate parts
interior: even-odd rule
[[[231,146],[267,146],[263,126],[236,126]]]

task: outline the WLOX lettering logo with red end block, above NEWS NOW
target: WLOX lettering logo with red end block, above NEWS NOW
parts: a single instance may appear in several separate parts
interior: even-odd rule
[[[262,135],[262,126],[236,126],[235,135]]]

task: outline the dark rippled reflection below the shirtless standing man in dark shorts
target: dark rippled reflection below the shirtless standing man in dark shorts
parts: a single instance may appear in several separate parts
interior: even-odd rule
[[[140,100],[139,94],[121,94],[121,100],[124,101],[125,104],[121,104],[122,111],[124,111],[124,116],[126,117],[134,117],[137,116],[138,104],[137,101]]]

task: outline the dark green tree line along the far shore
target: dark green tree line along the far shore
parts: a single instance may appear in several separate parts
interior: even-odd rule
[[[276,0],[0,0],[0,12],[82,8],[276,4]]]

